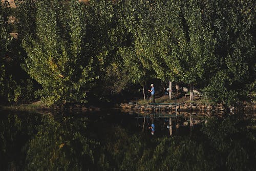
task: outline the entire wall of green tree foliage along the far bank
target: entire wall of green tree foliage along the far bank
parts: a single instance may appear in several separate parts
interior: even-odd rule
[[[251,0],[25,1],[17,17],[27,54],[18,62],[48,104],[109,101],[159,79],[196,84],[212,102],[236,105],[255,91],[254,11]],[[12,44],[8,13],[1,55]]]

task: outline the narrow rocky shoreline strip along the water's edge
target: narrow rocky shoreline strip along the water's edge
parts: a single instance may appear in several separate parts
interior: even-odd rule
[[[161,105],[162,104],[162,105]],[[207,104],[207,103],[188,103],[181,102],[177,103],[178,105],[168,104],[168,103],[160,103],[156,105],[151,105],[148,103],[121,103],[120,105],[113,106],[84,106],[84,105],[68,105],[68,106],[58,106],[52,105],[47,106],[41,101],[33,102],[30,104],[18,104],[18,105],[0,105],[0,110],[8,110],[8,111],[23,111],[23,112],[87,112],[87,111],[102,111],[108,109],[120,109],[124,112],[134,112],[134,113],[152,113],[152,112],[160,112],[160,113],[169,113],[169,112],[193,112],[193,113],[204,113],[204,112],[216,112],[216,113],[225,113],[225,112],[239,112],[239,111],[248,111],[248,112],[256,112],[256,104],[244,104],[241,106],[228,108],[224,103],[220,103],[217,105]]]

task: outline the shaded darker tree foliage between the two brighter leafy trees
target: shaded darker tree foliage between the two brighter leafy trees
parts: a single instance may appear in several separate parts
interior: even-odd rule
[[[109,100],[119,94],[131,82],[119,48],[131,44],[129,33],[123,25],[122,1],[90,1],[86,7],[88,54],[99,61],[95,89],[90,98]]]

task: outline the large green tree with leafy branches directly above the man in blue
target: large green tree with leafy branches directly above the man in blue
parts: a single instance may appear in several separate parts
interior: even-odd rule
[[[216,41],[195,3],[138,1],[132,7],[127,23],[133,30],[136,54],[143,68],[153,69],[161,80],[201,82],[204,72],[214,68]]]

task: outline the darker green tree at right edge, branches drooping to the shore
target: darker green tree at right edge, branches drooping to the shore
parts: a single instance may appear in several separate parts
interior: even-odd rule
[[[255,7],[252,1],[216,1],[205,5],[214,37],[217,71],[205,92],[214,102],[235,105],[255,90]]]

